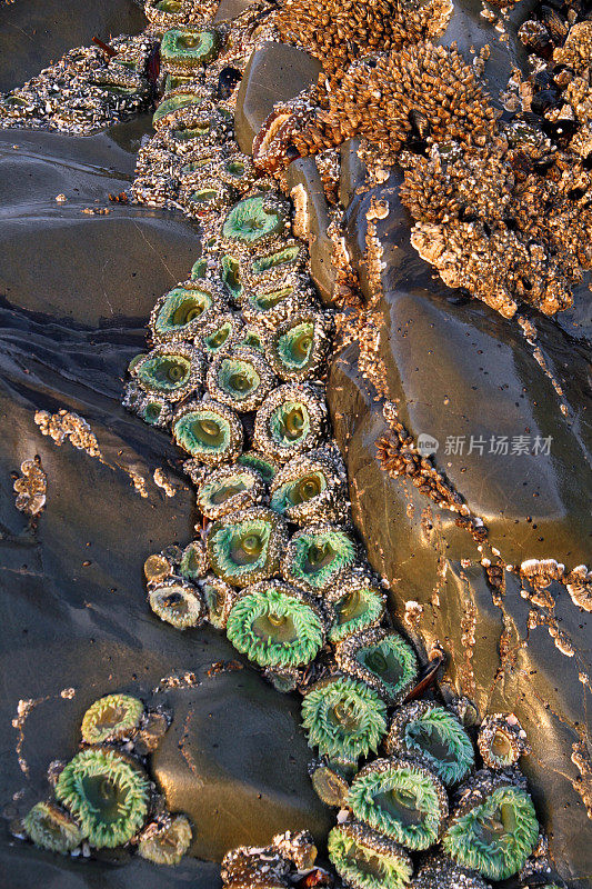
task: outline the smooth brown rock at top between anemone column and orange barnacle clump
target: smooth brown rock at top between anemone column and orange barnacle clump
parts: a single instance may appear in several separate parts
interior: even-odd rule
[[[317,81],[320,63],[308,52],[270,41],[253,52],[241,81],[234,113],[241,151],[251,154],[253,139],[275,102],[293,99]]]

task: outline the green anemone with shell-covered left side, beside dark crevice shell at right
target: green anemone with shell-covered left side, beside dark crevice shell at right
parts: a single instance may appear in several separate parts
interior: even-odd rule
[[[401,703],[415,685],[418,659],[398,632],[364,630],[335,647],[339,667],[375,688],[389,703]]]

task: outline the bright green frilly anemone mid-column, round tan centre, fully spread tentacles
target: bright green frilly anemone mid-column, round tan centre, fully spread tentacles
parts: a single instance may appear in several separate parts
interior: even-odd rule
[[[278,580],[243,590],[233,605],[227,636],[259,667],[310,663],[324,642],[323,620],[304,593]]]

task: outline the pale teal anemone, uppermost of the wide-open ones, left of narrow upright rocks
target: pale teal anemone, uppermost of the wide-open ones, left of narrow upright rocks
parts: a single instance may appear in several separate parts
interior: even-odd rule
[[[290,218],[290,206],[277,196],[258,194],[235,203],[222,222],[222,247],[232,250],[258,250],[279,243]]]

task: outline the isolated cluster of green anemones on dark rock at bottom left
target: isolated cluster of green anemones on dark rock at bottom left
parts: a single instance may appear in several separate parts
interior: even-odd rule
[[[52,762],[53,800],[36,803],[14,827],[17,836],[61,855],[127,846],[159,865],[177,865],[191,845],[191,826],[171,815],[146,769],[169,727],[131,695],[99,698],[82,718],[81,749]]]

